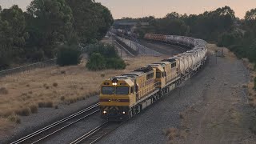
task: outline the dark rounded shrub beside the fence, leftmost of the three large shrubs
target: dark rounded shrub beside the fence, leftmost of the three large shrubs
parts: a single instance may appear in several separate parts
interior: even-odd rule
[[[57,64],[59,66],[78,65],[81,60],[81,51],[76,46],[61,46],[58,49]]]

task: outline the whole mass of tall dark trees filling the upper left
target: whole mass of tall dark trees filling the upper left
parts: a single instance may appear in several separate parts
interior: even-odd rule
[[[97,42],[113,22],[110,10],[92,0],[33,0],[24,12],[0,6],[0,69],[54,58],[62,45]]]

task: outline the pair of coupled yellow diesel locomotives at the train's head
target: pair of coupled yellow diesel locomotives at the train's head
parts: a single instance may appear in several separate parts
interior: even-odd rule
[[[119,121],[138,114],[174,89],[179,78],[177,70],[175,60],[155,62],[102,82],[99,100],[102,118]]]

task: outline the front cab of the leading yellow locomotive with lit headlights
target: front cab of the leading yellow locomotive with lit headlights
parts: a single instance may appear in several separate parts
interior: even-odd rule
[[[111,121],[129,118],[130,103],[135,102],[134,94],[134,82],[127,77],[102,82],[99,100],[102,118]]]

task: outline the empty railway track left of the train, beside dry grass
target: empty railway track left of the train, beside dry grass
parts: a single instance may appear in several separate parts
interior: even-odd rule
[[[92,106],[87,107],[86,109],[80,110],[75,114],[72,114],[66,118],[62,118],[58,122],[54,122],[49,126],[43,127],[40,130],[35,131],[32,134],[26,135],[23,138],[16,140],[15,142],[11,142],[11,144],[18,143],[38,143],[42,142],[46,138],[53,136],[54,134],[58,134],[61,130],[65,129],[68,126],[72,126],[75,123],[90,117],[90,115],[99,112],[99,103],[96,103]]]

